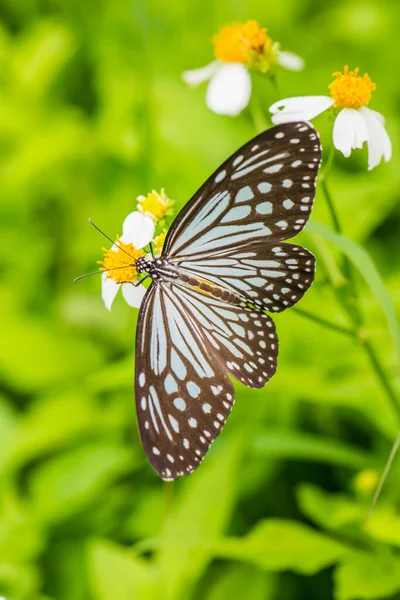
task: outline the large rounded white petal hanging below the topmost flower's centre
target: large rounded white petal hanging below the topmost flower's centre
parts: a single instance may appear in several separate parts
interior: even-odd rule
[[[246,67],[225,63],[208,84],[206,103],[218,115],[235,117],[248,105],[250,94],[251,79]]]

